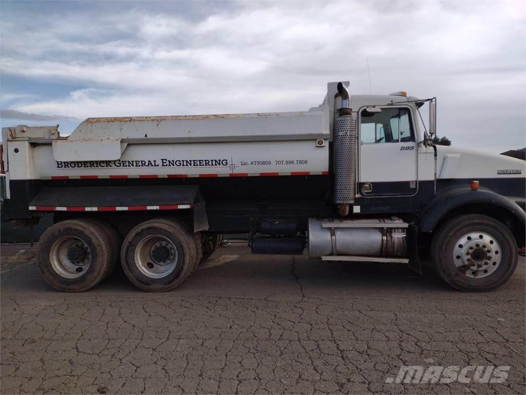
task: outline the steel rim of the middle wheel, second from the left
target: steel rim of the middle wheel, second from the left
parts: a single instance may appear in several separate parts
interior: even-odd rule
[[[170,239],[160,234],[146,236],[135,248],[135,265],[150,279],[161,279],[173,272],[179,261]]]

